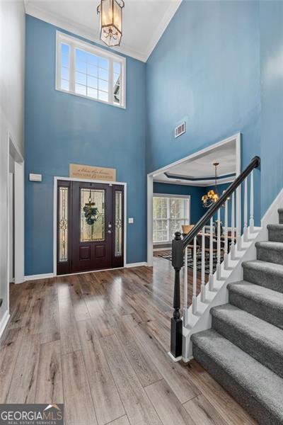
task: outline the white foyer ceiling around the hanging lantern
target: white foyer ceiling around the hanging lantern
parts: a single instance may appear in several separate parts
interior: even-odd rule
[[[125,0],[121,46],[113,50],[146,61],[182,0]],[[99,42],[99,0],[25,0],[25,11]]]

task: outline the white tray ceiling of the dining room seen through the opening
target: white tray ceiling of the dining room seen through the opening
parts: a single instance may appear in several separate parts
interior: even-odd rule
[[[219,166],[217,166],[217,176],[224,176],[224,178],[218,182],[227,183],[233,181],[234,177],[225,176],[227,174],[236,173],[236,142],[229,142],[200,157],[187,159],[178,165],[172,166],[166,170],[167,176],[165,173],[156,174],[154,176],[154,181],[186,184],[190,186],[207,186],[214,183],[214,162],[219,162]],[[168,176],[174,176],[175,178],[168,178]],[[180,177],[180,179],[178,179],[178,177]],[[181,180],[182,177],[187,179],[206,180],[186,181]],[[209,179],[209,177],[212,177],[212,179]]]

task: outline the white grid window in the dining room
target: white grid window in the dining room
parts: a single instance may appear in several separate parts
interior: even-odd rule
[[[190,197],[154,195],[154,243],[171,242],[190,224]]]

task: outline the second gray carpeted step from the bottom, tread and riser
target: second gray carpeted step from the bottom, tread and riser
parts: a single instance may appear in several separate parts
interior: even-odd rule
[[[212,307],[212,328],[283,378],[283,330],[238,307]]]

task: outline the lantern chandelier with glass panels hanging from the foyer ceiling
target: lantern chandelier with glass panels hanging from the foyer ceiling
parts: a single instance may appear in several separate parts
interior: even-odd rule
[[[120,46],[122,38],[123,0],[101,0],[97,12],[100,15],[100,40],[109,47]]]

